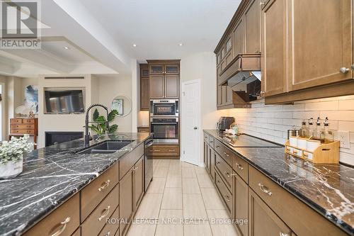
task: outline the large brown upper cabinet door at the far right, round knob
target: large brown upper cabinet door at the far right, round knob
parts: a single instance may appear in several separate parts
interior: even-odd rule
[[[291,0],[289,6],[290,90],[351,79],[351,0]]]

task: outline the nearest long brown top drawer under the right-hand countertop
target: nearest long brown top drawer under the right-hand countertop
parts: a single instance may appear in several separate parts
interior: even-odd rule
[[[273,180],[249,167],[249,186],[296,233],[296,235],[346,235]],[[321,227],[314,227],[321,225]]]

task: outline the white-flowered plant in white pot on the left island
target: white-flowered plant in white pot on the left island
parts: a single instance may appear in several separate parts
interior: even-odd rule
[[[33,149],[33,143],[28,142],[29,135],[11,137],[0,145],[0,179],[18,176],[22,172],[23,155]]]

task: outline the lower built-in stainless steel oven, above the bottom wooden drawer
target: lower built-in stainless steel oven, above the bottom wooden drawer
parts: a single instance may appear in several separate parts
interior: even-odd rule
[[[152,117],[150,122],[154,142],[178,143],[178,117]]]

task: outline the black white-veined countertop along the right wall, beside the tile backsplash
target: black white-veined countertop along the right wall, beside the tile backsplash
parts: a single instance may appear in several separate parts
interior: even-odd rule
[[[232,147],[217,130],[204,130],[292,195],[354,235],[354,169],[312,164],[284,153],[284,147]]]

